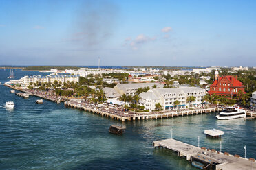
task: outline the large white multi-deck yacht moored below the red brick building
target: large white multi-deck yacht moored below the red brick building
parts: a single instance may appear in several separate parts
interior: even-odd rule
[[[237,119],[237,118],[245,118],[246,111],[239,107],[226,107],[216,115],[217,119],[220,120],[228,120],[228,119]]]

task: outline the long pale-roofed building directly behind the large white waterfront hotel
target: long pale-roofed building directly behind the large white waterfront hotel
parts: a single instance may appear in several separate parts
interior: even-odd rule
[[[134,95],[138,88],[145,88],[149,87],[152,88],[154,85],[156,85],[157,88],[162,88],[164,85],[160,83],[131,83],[131,84],[116,84],[114,86],[114,90],[116,90],[117,93],[120,95],[126,94],[126,95]]]

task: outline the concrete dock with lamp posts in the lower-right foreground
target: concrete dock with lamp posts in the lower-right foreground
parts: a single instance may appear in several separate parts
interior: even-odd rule
[[[162,141],[154,141],[153,147],[163,147],[175,151],[178,156],[186,157],[191,162],[196,161],[204,165],[206,169],[213,170],[246,170],[256,169],[256,162],[253,158],[242,158],[239,155],[231,155],[227,152],[219,152],[206,147],[196,147],[173,138]]]

